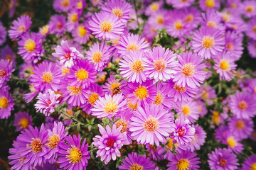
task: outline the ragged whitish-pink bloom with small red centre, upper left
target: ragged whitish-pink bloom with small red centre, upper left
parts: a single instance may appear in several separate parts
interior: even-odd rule
[[[53,56],[58,57],[60,64],[68,68],[74,65],[76,59],[83,58],[83,55],[75,47],[72,47],[68,41],[63,40],[54,50]]]

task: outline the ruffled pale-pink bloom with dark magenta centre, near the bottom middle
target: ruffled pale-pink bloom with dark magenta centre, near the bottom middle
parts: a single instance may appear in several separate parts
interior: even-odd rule
[[[111,129],[107,125],[106,130],[100,124],[98,127],[102,136],[96,135],[93,137],[92,140],[94,142],[92,142],[92,145],[98,148],[96,157],[100,157],[100,160],[105,161],[105,164],[107,164],[111,159],[115,161],[117,157],[121,157],[119,149],[123,145],[129,145],[129,141],[126,132],[120,132],[122,126],[117,128],[114,124]]]

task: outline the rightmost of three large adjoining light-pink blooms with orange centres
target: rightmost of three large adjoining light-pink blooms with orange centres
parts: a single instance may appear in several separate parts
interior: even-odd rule
[[[178,55],[177,59],[178,66],[174,67],[177,73],[173,79],[176,85],[183,87],[189,86],[191,88],[200,86],[199,83],[203,83],[207,74],[207,72],[202,71],[202,69],[206,68],[206,64],[202,63],[203,59],[192,52],[185,52]]]

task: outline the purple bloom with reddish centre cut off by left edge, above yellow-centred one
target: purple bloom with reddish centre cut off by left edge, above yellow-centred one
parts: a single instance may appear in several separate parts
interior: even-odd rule
[[[5,86],[6,81],[11,79],[11,73],[14,72],[11,64],[9,60],[0,60],[0,88]]]

